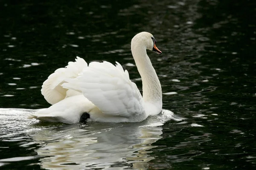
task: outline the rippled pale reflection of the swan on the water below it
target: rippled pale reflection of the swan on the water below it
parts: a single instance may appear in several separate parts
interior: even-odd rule
[[[148,153],[157,147],[150,144],[162,138],[162,127],[116,124],[100,128],[97,124],[70,125],[67,129],[43,130],[31,135],[41,142],[42,147],[36,152],[45,156],[40,159],[42,168],[148,168],[148,161],[154,159]]]

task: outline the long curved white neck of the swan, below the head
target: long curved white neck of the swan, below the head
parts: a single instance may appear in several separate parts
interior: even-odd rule
[[[143,100],[145,104],[148,102],[162,109],[162,88],[157,73],[147,55],[146,48],[140,44],[132,43],[131,53],[142,79]]]

